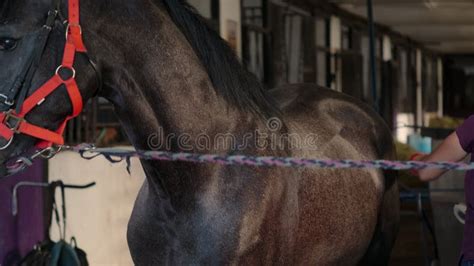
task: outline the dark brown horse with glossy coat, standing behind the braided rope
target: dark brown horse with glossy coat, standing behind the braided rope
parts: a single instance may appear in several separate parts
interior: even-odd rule
[[[60,3],[66,17],[67,4]],[[50,6],[51,0],[0,0],[1,93],[24,69],[24,58],[36,45],[30,34],[44,24]],[[114,104],[137,149],[394,159],[391,133],[369,107],[309,84],[263,90],[182,1],[82,0],[80,14],[89,55],[103,76],[99,94]],[[64,31],[57,21],[29,94],[54,74]],[[75,69],[86,101],[95,95],[98,79],[84,56],[78,56]],[[26,119],[55,129],[70,112],[69,97],[60,89]],[[188,143],[170,136],[186,136]],[[202,139],[206,145],[198,145]],[[35,141],[15,136],[0,162]],[[393,173],[142,165],[147,179],[128,227],[137,265],[389,261],[399,212]]]

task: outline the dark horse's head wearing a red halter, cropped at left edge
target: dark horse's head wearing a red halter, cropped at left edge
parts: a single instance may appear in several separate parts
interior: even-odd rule
[[[66,122],[97,91],[77,0],[0,4],[0,164],[62,145]],[[91,67],[92,66],[92,67]]]

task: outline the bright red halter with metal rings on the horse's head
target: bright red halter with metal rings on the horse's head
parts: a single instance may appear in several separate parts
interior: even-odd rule
[[[79,0],[69,0],[69,19],[66,30],[66,45],[64,48],[62,64],[57,68],[54,76],[37,89],[32,95],[25,99],[19,114],[14,109],[0,113],[0,136],[11,142],[15,134],[25,134],[42,140],[36,146],[38,148],[50,147],[53,144],[63,145],[63,133],[66,124],[72,118],[78,116],[83,107],[81,93],[75,80],[74,59],[76,53],[87,52],[82,40],[82,29],[79,24]],[[72,77],[63,80],[59,75],[61,70],[69,70]],[[35,126],[26,121],[25,116],[40,105],[46,97],[64,85],[67,89],[72,104],[72,114],[69,115],[56,131],[51,131]]]

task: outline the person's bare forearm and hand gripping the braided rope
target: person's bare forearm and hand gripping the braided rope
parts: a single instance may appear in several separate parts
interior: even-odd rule
[[[456,132],[447,137],[434,152],[421,158],[420,161],[448,161],[459,162],[466,158],[467,152],[461,147]],[[433,181],[444,174],[446,170],[440,169],[424,169],[420,170],[419,177],[422,181]]]

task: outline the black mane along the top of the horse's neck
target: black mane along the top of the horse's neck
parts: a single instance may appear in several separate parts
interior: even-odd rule
[[[279,113],[257,77],[242,66],[205,18],[185,0],[163,0],[163,3],[207,70],[218,95],[241,110],[265,118]]]

